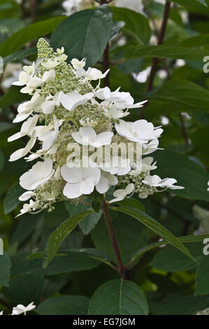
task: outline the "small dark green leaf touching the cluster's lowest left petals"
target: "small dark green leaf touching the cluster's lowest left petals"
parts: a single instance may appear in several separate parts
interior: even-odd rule
[[[23,192],[24,189],[20,186],[19,181],[15,182],[13,186],[10,187],[3,200],[4,214],[10,213],[20,204],[19,197]]]

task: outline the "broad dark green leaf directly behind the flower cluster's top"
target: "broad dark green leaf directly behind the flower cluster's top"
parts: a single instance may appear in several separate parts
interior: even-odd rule
[[[94,66],[106,48],[112,23],[112,12],[108,6],[79,11],[70,15],[55,29],[50,44],[54,49],[63,46],[68,61],[73,57],[86,57],[86,67]]]

